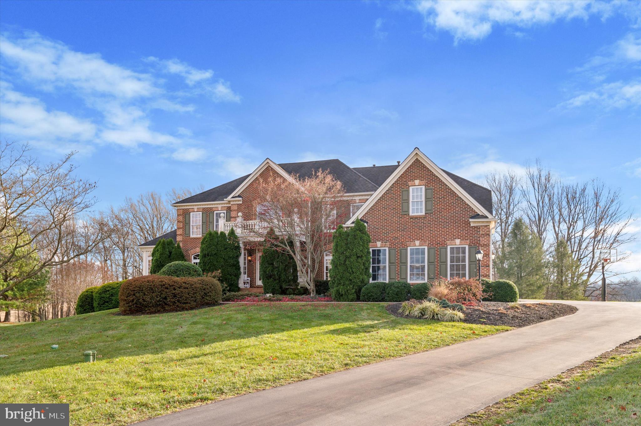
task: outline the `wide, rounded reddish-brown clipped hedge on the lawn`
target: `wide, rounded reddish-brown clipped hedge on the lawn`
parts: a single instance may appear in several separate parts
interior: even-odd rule
[[[120,290],[122,315],[187,311],[221,302],[221,283],[212,277],[144,275],[129,279]]]

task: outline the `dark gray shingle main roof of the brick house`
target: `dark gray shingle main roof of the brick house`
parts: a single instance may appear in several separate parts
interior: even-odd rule
[[[340,160],[319,160],[303,161],[301,163],[283,163],[280,167],[289,174],[297,174],[299,177],[310,177],[314,171],[328,170],[333,174],[345,187],[345,192],[374,192],[381,186],[398,165],[390,166],[373,166],[373,167],[349,167]],[[441,169],[443,170],[443,169]],[[476,200],[483,208],[492,213],[492,191],[488,188],[469,181],[463,177],[457,176],[447,170],[443,170],[458,186],[463,188],[470,197]],[[249,174],[238,177],[228,183],[216,186],[196,195],[192,195],[176,204],[188,204],[192,202],[212,202],[223,201],[242,184]],[[174,239],[175,239],[174,231]],[[160,237],[159,237],[160,238]],[[153,240],[152,240],[153,241]],[[150,242],[151,243],[151,242]],[[155,243],[154,243],[155,244]],[[145,244],[147,245],[147,244]]]

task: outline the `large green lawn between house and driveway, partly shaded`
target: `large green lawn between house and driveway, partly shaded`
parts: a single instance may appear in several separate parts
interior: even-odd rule
[[[67,402],[74,425],[123,425],[509,329],[396,318],[385,304],[116,312],[3,327],[0,402]],[[88,349],[96,363],[82,362]]]

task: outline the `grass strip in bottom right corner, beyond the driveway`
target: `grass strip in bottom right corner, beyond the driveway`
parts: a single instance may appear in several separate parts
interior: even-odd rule
[[[600,362],[600,361],[599,361]],[[501,413],[472,414],[483,426],[641,425],[641,348],[564,381],[556,377],[504,400]]]

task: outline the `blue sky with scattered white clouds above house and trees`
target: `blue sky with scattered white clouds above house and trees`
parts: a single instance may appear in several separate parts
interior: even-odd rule
[[[0,137],[78,151],[105,206],[418,146],[476,181],[539,158],[634,207],[640,5],[1,1]]]

